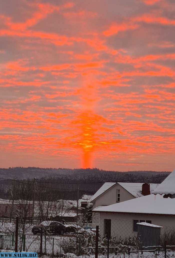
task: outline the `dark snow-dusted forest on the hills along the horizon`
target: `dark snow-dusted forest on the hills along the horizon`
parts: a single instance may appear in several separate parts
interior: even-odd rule
[[[68,168],[39,168],[39,167],[9,167],[0,168],[0,198],[10,198],[10,185],[15,180],[31,184],[34,178],[37,186],[47,187],[48,191],[57,190],[65,199],[76,200],[77,189],[79,197],[83,194],[93,195],[104,182],[138,182],[161,183],[169,171],[105,171],[98,168],[68,169]]]

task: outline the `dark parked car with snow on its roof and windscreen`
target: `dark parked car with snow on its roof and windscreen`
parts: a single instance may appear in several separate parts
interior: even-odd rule
[[[66,227],[58,221],[43,221],[39,225],[32,228],[34,235],[41,233],[41,229],[45,234],[59,234],[63,235],[66,232]]]

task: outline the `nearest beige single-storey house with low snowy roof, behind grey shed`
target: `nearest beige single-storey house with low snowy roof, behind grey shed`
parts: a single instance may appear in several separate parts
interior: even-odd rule
[[[137,223],[174,227],[175,199],[154,194],[93,209],[100,214],[101,235],[129,237],[137,234]]]

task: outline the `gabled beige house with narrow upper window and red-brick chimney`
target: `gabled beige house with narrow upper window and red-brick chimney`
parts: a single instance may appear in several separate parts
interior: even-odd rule
[[[93,195],[91,202],[93,204],[93,208],[116,203],[119,204],[123,201],[150,195],[158,186],[159,184],[106,182]],[[99,213],[93,212],[92,223],[99,223]]]

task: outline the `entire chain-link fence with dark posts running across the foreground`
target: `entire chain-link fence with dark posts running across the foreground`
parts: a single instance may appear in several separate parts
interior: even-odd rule
[[[96,230],[73,232],[38,232],[18,234],[17,251],[37,252],[38,255],[66,257],[175,257],[175,230],[158,227],[151,221],[109,219],[104,216]],[[32,227],[32,226],[31,226]],[[73,225],[67,225],[69,230]],[[74,226],[75,227],[75,226]],[[28,231],[29,232],[29,231]],[[0,249],[15,250],[15,231],[0,234]],[[70,256],[71,257],[71,256]]]

